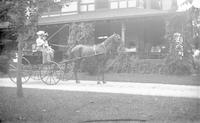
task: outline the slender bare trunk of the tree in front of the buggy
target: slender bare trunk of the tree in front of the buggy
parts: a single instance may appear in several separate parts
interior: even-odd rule
[[[22,90],[22,79],[21,79],[21,73],[22,73],[22,49],[21,49],[21,40],[22,36],[18,36],[18,64],[17,64],[17,96],[23,97],[23,90]]]

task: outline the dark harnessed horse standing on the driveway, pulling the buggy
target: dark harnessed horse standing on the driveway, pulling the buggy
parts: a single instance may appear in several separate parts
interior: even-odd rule
[[[102,75],[103,84],[106,83],[104,79],[104,66],[107,60],[109,59],[109,55],[113,55],[117,53],[119,47],[122,45],[122,41],[120,35],[114,33],[110,37],[108,37],[104,42],[96,45],[83,45],[79,44],[71,48],[70,50],[70,58],[76,59],[74,60],[74,77],[76,83],[80,83],[78,80],[78,69],[80,69],[80,64],[83,59],[95,57],[97,60],[97,84],[101,84],[100,82],[100,74]]]

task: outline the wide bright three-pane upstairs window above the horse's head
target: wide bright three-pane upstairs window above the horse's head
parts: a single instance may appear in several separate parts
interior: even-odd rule
[[[138,0],[110,0],[110,9],[137,7]]]

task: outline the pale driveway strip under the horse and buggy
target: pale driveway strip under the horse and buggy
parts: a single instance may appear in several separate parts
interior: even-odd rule
[[[8,78],[0,79],[0,87],[16,87]],[[57,85],[45,85],[40,80],[30,79],[23,88],[79,91],[94,93],[117,93],[129,95],[164,96],[182,98],[200,98],[200,86],[171,85],[158,83],[135,83],[135,82],[107,82],[97,85],[96,81],[81,81],[76,84],[74,80],[60,81]]]

